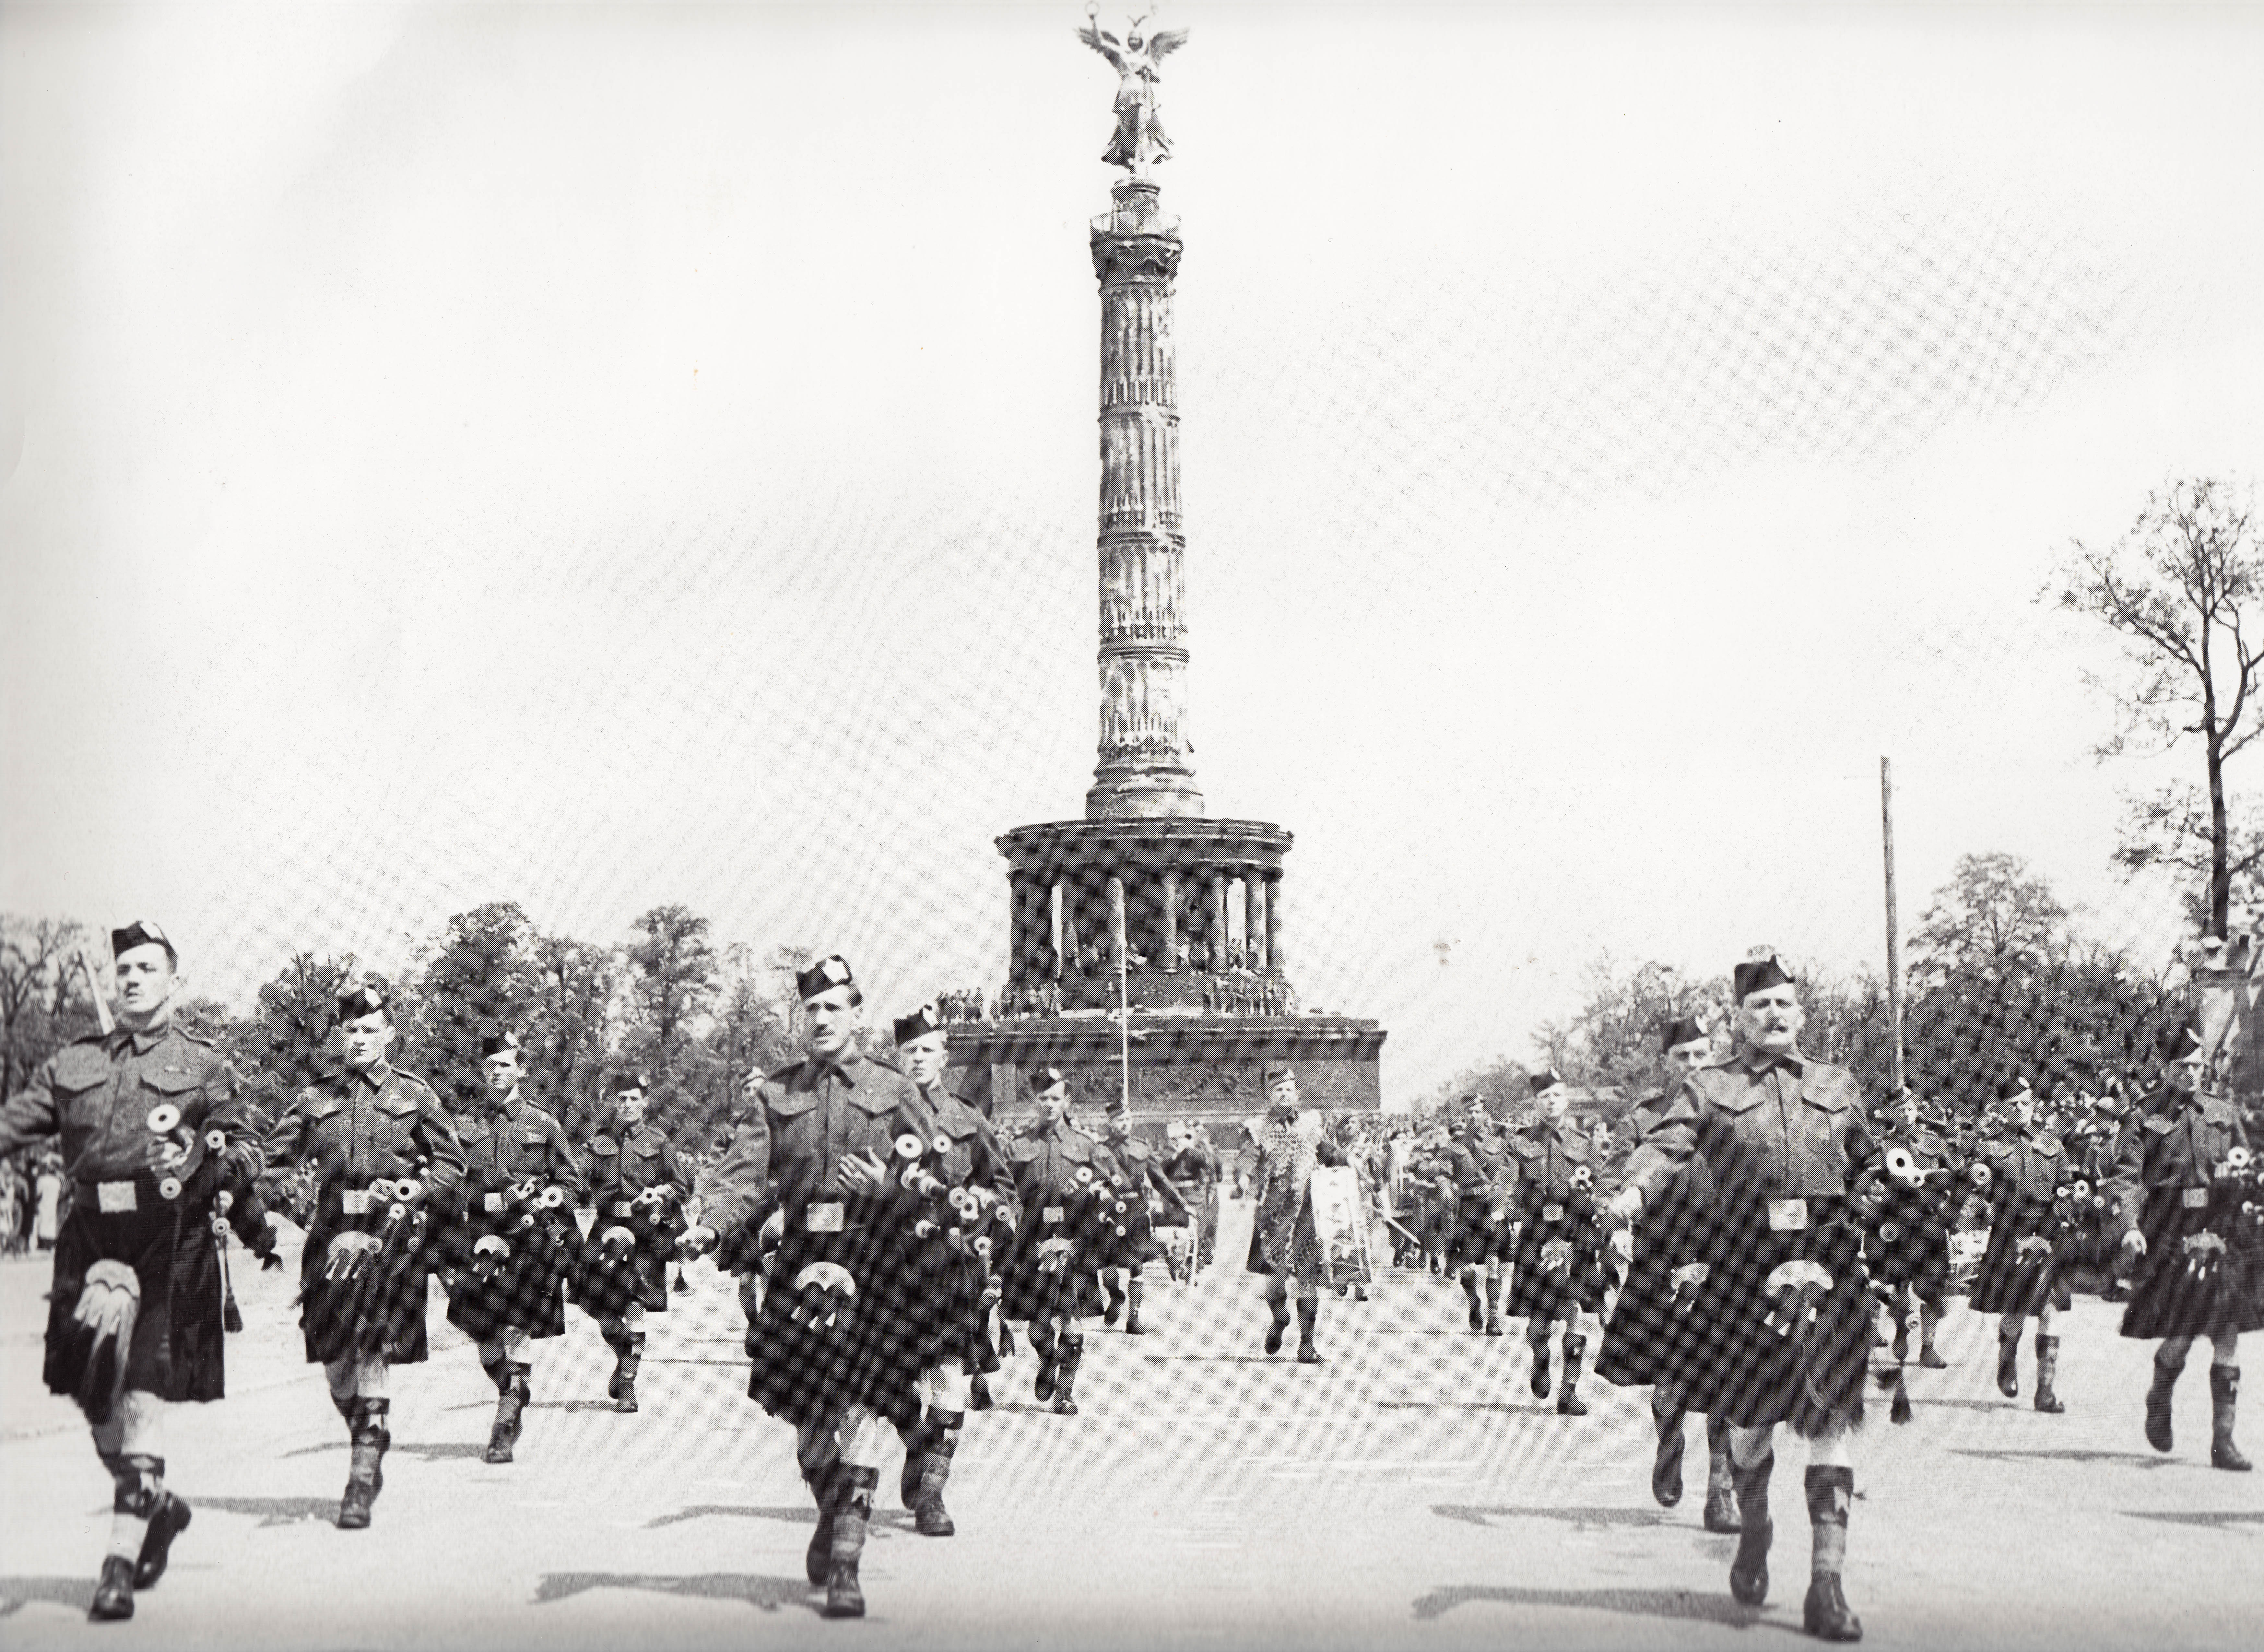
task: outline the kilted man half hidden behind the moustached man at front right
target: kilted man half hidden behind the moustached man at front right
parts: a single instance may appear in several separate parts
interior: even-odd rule
[[[1637,1143],[1666,1116],[1666,1104],[1682,1079],[1698,1070],[1712,1050],[1712,1039],[1696,1018],[1675,1016],[1660,1023],[1660,1075],[1666,1089],[1635,1104],[1630,1129]],[[1628,1283],[1612,1308],[1603,1346],[1596,1349],[1596,1376],[1614,1387],[1650,1389],[1650,1421],[1660,1435],[1650,1464],[1650,1496],[1666,1509],[1682,1500],[1682,1417],[1689,1410],[1682,1378],[1705,1315],[1705,1276],[1714,1263],[1718,1229],[1721,1199],[1714,1195],[1705,1159],[1691,1156],[1644,1204],[1632,1245],[1626,1240],[1626,1229],[1614,1236],[1628,1251]],[[1734,1532],[1730,1419],[1712,1414],[1705,1423],[1705,1530]]]

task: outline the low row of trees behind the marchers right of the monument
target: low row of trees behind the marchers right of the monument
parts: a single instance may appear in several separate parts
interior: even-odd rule
[[[1752,948],[1770,950],[1800,978],[1802,1046],[1852,1068],[1872,1100],[1886,1098],[1893,1021],[1884,975],[1834,971],[1795,948]],[[2133,1070],[2151,1084],[2155,1036],[2194,1018],[2182,966],[2087,941],[2049,880],[2015,855],[1958,860],[1904,950],[1906,1082],[1954,1113],[1976,1113],[1997,1079],[2015,1073],[2040,1095],[2099,1091]],[[1698,1014],[1723,1027],[1727,973],[1727,962],[1691,973],[1603,953],[1589,964],[1580,1009],[1535,1036],[1533,1064],[1549,1061],[1573,1084],[1646,1095],[1657,1089],[1660,1021]],[[1433,1100],[1469,1091],[1517,1107],[1524,1066],[1481,1061]]]

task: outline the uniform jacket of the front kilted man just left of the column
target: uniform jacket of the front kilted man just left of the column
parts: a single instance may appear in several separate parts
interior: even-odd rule
[[[788,1206],[854,1199],[840,1161],[874,1154],[890,1163],[899,1125],[926,1132],[928,1104],[890,1061],[851,1043],[840,1059],[811,1055],[781,1066],[763,1079],[731,1136],[731,1150],[702,1181],[700,1222],[729,1233],[756,1211],[767,1211],[772,1188]],[[917,1204],[901,1188],[881,1197]]]

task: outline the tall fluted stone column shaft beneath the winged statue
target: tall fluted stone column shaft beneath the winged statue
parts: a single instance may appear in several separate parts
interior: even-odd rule
[[[1186,579],[1170,281],[1180,222],[1152,179],[1094,220],[1100,276],[1100,767],[1089,819],[1200,815],[1186,733]]]

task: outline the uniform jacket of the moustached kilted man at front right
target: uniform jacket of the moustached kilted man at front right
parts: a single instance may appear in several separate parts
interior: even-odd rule
[[[1628,1154],[1628,1186],[1657,1195],[1703,1156],[1725,1215],[1770,1199],[1843,1199],[1879,1147],[1847,1068],[1798,1050],[1732,1055],[1698,1068]]]

